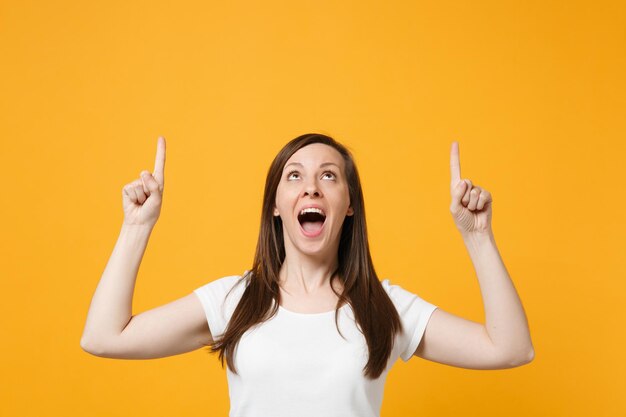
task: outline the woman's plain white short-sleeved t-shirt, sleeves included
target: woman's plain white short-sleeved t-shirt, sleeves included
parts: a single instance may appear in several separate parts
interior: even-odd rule
[[[221,337],[241,295],[241,278],[216,279],[193,292],[202,302],[211,334]],[[238,375],[227,369],[230,417],[379,417],[387,374],[398,357],[411,359],[437,308],[416,294],[381,282],[405,333],[398,334],[387,368],[376,380],[363,375],[368,351],[350,305],[307,314],[279,306],[270,320],[253,326],[235,349]]]

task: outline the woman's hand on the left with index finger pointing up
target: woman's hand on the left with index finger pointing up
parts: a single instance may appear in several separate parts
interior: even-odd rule
[[[163,169],[165,168],[165,138],[157,140],[154,172],[141,171],[139,178],[122,189],[124,224],[154,227],[163,201]]]

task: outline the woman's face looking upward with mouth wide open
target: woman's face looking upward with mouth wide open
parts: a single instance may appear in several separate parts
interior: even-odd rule
[[[274,208],[283,223],[287,255],[292,250],[336,255],[343,221],[353,214],[345,163],[336,149],[313,143],[287,160]]]

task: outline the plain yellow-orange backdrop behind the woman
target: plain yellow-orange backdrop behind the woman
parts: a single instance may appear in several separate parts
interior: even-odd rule
[[[352,149],[377,272],[484,321],[449,152],[494,198],[535,360],[413,358],[382,416],[617,416],[624,400],[623,2],[0,3],[2,416],[226,416],[204,350],[81,350],[122,187],[167,138],[135,314],[252,262],[265,174],[316,131]]]

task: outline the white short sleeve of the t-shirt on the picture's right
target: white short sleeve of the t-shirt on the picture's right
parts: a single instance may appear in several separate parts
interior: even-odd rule
[[[428,320],[437,306],[399,285],[392,284],[388,279],[381,284],[400,315],[404,332],[396,339],[397,349],[402,360],[408,362],[422,340]]]

